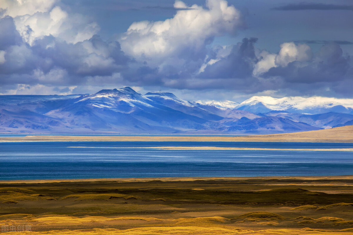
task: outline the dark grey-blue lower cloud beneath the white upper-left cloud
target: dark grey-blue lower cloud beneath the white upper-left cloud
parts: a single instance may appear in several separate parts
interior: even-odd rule
[[[84,84],[92,76],[120,72],[132,61],[119,42],[105,42],[99,36],[76,44],[44,36],[29,45],[22,41],[11,17],[0,19],[0,52],[5,59],[0,60],[2,85]]]

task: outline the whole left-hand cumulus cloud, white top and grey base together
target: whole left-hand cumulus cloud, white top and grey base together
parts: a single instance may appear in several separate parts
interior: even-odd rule
[[[114,74],[130,61],[119,42],[95,35],[95,22],[68,13],[57,1],[4,0],[0,8],[1,93],[53,92],[55,87],[66,92],[87,81],[114,83]]]

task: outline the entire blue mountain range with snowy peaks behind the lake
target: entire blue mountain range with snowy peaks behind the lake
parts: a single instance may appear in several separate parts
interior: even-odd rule
[[[192,102],[130,87],[95,94],[0,95],[0,132],[32,134],[276,134],[352,125],[353,100],[255,96]]]

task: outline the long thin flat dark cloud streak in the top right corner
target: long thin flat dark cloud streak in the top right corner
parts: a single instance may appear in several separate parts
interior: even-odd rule
[[[348,10],[353,11],[353,5],[336,5],[336,4],[322,4],[322,3],[305,3],[288,4],[285,6],[274,7],[272,10],[277,11],[303,11],[303,10]]]

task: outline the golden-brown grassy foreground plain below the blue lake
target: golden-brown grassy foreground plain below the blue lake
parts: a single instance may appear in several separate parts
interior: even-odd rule
[[[8,234],[353,234],[353,177],[0,181],[0,214]]]

